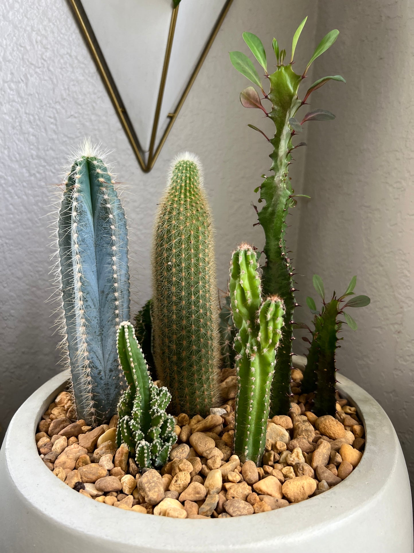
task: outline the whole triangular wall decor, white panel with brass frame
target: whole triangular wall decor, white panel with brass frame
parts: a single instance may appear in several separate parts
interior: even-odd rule
[[[150,171],[232,0],[68,0],[139,164]]]

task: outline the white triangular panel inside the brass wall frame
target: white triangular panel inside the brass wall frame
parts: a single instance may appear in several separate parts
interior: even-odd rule
[[[157,147],[226,0],[182,0],[158,124]],[[144,152],[153,121],[169,27],[171,0],[82,0],[82,6]]]

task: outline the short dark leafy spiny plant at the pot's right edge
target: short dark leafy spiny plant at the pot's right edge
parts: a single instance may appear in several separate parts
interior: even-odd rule
[[[315,369],[317,376],[314,413],[317,416],[321,415],[335,415],[336,413],[336,399],[335,399],[335,384],[336,384],[336,367],[335,367],[335,352],[338,346],[338,333],[341,331],[342,325],[346,323],[352,330],[357,330],[357,324],[344,309],[346,307],[364,307],[369,305],[370,299],[368,296],[355,296],[354,298],[345,298],[354,295],[355,284],[357,283],[357,277],[353,276],[351,282],[348,285],[346,292],[336,297],[335,291],[332,295],[331,301],[325,302],[325,289],[323,287],[322,279],[319,275],[314,275],[313,278],[314,288],[322,298],[322,310],[316,310],[315,301],[312,298],[306,298],[306,303],[311,312],[315,315],[315,332],[314,337],[309,348],[309,354],[311,357],[311,363],[306,364],[305,374],[308,369]],[[346,304],[341,305],[344,301]],[[343,315],[344,321],[338,320],[338,316]],[[302,392],[304,390],[302,389]]]

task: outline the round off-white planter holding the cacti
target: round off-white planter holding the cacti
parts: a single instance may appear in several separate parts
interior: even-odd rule
[[[367,444],[352,474],[330,491],[250,517],[177,520],[116,509],[83,497],[38,456],[35,427],[66,383],[64,374],[25,401],[0,455],[0,551],[99,553],[412,553],[410,484],[388,416],[367,392],[341,376],[364,421]]]

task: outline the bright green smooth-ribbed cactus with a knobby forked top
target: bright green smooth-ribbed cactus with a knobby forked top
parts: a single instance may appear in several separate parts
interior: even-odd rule
[[[230,265],[230,299],[238,333],[236,370],[236,455],[243,461],[261,462],[266,442],[270,385],[275,352],[283,326],[283,303],[276,296],[262,299],[256,252],[242,244]]]

